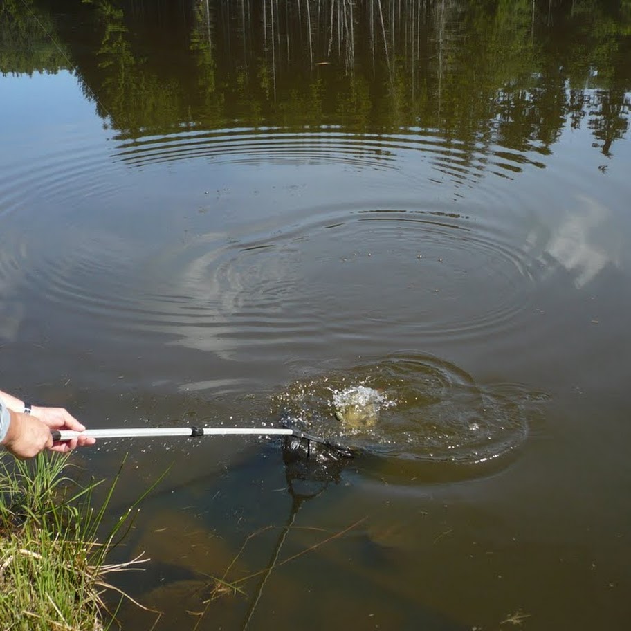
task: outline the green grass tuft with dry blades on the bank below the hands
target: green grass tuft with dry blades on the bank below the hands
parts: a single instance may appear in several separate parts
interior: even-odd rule
[[[31,461],[0,455],[1,629],[104,631],[113,614],[103,596],[118,592],[107,583],[107,574],[143,562],[105,563],[131,527],[137,504],[159,479],[100,540],[121,472],[95,509],[93,491],[100,483],[78,485],[68,476],[70,467],[68,455],[51,452]]]

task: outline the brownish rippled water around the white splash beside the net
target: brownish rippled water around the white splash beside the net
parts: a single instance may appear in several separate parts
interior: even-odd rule
[[[336,415],[337,401],[340,392],[362,387],[378,393],[378,415],[349,430]],[[527,439],[528,406],[540,399],[520,385],[478,385],[434,356],[396,354],[296,381],[273,398],[273,410],[304,431],[372,457],[416,463],[419,470],[433,464],[441,475],[466,477],[507,461]]]

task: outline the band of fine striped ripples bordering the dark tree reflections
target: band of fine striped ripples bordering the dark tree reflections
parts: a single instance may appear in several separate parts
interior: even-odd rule
[[[414,152],[428,161],[439,177],[447,176],[453,183],[475,181],[486,170],[510,177],[524,165],[545,166],[527,153],[443,138],[435,130],[418,128],[379,134],[338,127],[179,131],[122,142],[117,152],[122,161],[136,166],[205,158],[219,163],[341,163],[374,169],[397,169],[405,156]]]

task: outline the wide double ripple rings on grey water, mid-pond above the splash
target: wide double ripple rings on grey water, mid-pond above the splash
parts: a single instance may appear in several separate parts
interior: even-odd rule
[[[529,306],[539,270],[499,228],[439,210],[333,208],[253,239],[153,250],[109,232],[71,241],[61,253],[28,244],[0,268],[22,268],[57,310],[226,354],[323,340],[360,352],[384,327],[399,347],[497,335]]]

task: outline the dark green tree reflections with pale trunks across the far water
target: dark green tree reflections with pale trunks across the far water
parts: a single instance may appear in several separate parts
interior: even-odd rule
[[[0,33],[36,42],[21,2],[5,1],[0,10],[17,26],[9,33],[3,20]],[[55,6],[83,12],[84,33],[63,24],[58,31],[86,94],[125,136],[235,120],[334,122],[351,131],[420,126],[464,143],[470,154],[479,143],[524,154],[549,152],[565,125],[587,125],[609,154],[628,130],[628,1],[56,0]],[[2,68],[28,68],[17,53],[12,60],[3,55]],[[52,57],[50,63],[53,70],[64,64]]]

